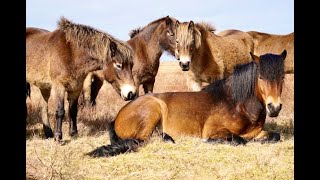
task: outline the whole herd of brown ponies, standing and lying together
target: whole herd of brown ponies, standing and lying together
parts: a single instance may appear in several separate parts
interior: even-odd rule
[[[62,141],[64,97],[69,102],[69,135],[77,130],[78,99],[95,104],[103,81],[125,101],[109,129],[111,144],[92,157],[135,151],[155,129],[164,141],[181,136],[208,143],[277,142],[264,130],[266,116],[278,116],[285,73],[294,73],[294,34],[226,30],[208,23],[179,22],[166,16],[130,32],[127,42],[62,17],[49,32],[26,28],[26,94],[30,85],[54,101],[52,131],[48,105],[42,110],[46,138]],[[175,56],[187,71],[190,92],[153,93],[160,57]],[[205,85],[209,84],[209,85]],[[145,95],[139,96],[142,85]]]

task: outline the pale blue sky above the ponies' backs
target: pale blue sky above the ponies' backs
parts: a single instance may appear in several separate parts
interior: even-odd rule
[[[26,26],[54,30],[61,16],[128,40],[128,32],[164,16],[207,21],[225,29],[287,34],[294,31],[293,0],[27,0]],[[173,60],[163,55],[162,60]]]

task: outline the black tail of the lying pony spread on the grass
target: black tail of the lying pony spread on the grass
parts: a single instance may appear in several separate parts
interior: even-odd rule
[[[101,146],[86,155],[91,157],[110,157],[119,154],[136,151],[138,147],[141,146],[143,141],[137,139],[123,139],[116,143]]]

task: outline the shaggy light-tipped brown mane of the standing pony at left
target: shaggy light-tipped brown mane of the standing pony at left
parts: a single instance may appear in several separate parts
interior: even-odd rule
[[[123,61],[132,61],[131,47],[105,32],[99,31],[87,25],[75,24],[65,17],[61,17],[58,21],[58,27],[65,33],[68,42],[75,43],[79,48],[83,48],[89,54],[106,62],[111,60],[110,44],[114,42],[117,50],[120,52]],[[122,63],[122,62],[120,62]]]

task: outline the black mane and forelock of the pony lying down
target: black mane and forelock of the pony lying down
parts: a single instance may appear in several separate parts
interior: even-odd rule
[[[261,55],[258,65],[254,61],[238,64],[230,77],[215,81],[202,90],[212,92],[215,99],[221,100],[226,97],[226,83],[230,83],[227,91],[231,94],[233,102],[241,102],[256,95],[258,74],[260,78],[266,78],[268,81],[281,80],[284,77],[284,60],[276,54]]]

